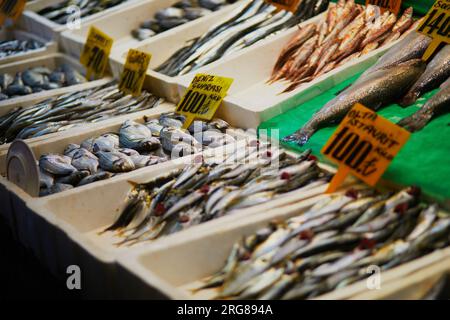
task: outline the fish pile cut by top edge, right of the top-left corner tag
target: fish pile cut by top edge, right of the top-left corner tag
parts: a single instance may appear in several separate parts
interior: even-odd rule
[[[55,23],[66,24],[74,17],[88,17],[127,1],[129,0],[63,0],[37,13]]]

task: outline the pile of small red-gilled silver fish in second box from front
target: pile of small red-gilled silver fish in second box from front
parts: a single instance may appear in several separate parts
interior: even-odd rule
[[[330,179],[310,152],[292,158],[276,148],[251,147],[223,162],[194,160],[184,169],[136,185],[117,221],[105,231],[119,231],[124,237],[119,245],[154,240]]]

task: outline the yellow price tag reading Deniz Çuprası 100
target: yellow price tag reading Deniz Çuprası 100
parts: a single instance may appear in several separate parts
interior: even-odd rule
[[[177,106],[176,112],[186,116],[183,128],[194,119],[211,120],[232,83],[230,78],[197,74]]]

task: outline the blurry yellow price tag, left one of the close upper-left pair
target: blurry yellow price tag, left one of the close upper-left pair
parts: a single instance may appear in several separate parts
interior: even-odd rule
[[[91,75],[103,77],[109,61],[109,54],[113,45],[113,39],[97,29],[91,27],[81,53],[80,62],[87,69],[87,78]]]

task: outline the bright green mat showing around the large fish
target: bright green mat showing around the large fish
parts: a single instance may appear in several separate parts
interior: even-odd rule
[[[359,75],[356,75],[299,107],[263,122],[259,129],[268,129],[268,135],[270,135],[270,129],[279,129],[280,138],[293,133],[306,123],[315,111],[333,99],[339,90],[350,85],[358,77]],[[437,91],[429,92],[414,106],[401,108],[394,104],[381,109],[378,113],[397,123],[403,117],[414,113]],[[450,199],[449,123],[450,114],[447,114],[430,122],[422,131],[412,134],[383,178],[405,186],[420,186],[424,192],[433,198],[448,201]],[[325,158],[320,154],[320,150],[335,130],[336,126],[319,130],[303,147],[293,143],[283,143],[283,145],[296,151],[311,148],[316,155],[320,155],[322,161],[325,161]]]

